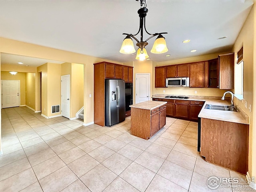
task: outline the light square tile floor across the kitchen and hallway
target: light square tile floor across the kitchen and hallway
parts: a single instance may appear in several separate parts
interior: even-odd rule
[[[130,117],[109,127],[46,119],[26,107],[2,109],[1,192],[207,192],[210,176],[244,176],[205,162],[197,123],[166,118],[149,140]]]

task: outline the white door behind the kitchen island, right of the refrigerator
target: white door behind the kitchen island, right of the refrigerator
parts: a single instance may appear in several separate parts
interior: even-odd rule
[[[136,103],[150,100],[150,74],[136,74]]]

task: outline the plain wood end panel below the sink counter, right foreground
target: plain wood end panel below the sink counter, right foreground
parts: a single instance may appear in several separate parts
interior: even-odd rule
[[[207,162],[246,174],[249,125],[201,118],[201,156]]]

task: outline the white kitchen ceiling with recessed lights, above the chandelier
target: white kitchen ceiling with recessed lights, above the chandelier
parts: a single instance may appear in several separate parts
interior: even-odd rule
[[[146,49],[156,62],[230,51],[253,4],[252,0],[146,2],[148,32],[168,32],[164,34],[169,49],[165,54],[150,53],[155,38],[148,41]],[[118,62],[132,61],[134,55],[119,50],[125,38],[122,33],[138,31],[139,8],[135,0],[0,0],[0,36]],[[227,38],[217,40],[221,36]],[[182,43],[186,39],[191,42]],[[194,49],[197,52],[191,53]]]

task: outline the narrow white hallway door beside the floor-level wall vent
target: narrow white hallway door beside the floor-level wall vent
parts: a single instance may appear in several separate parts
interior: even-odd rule
[[[70,75],[61,76],[61,114],[70,118]]]

